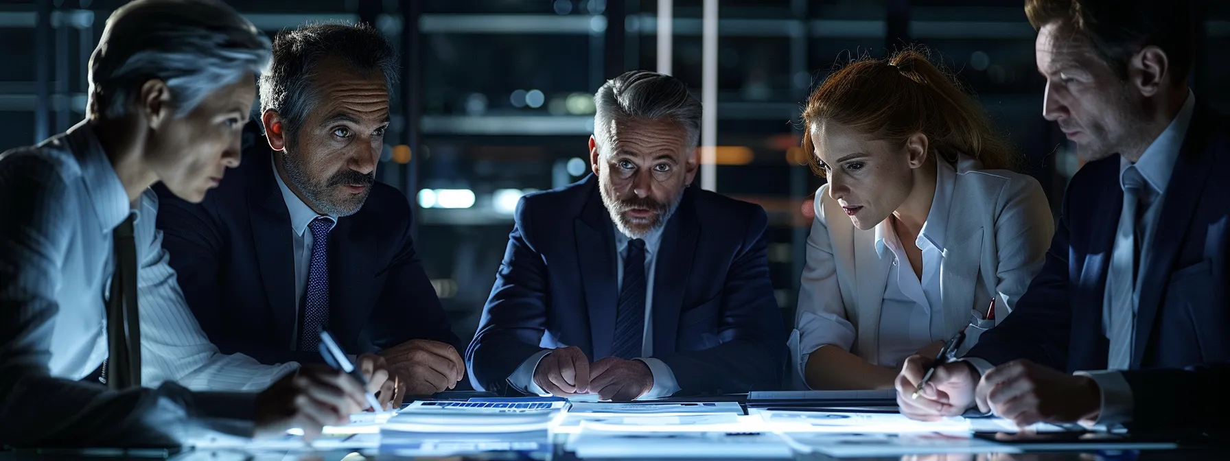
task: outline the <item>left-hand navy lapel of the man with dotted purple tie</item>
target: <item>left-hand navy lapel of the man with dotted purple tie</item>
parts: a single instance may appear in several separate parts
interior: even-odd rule
[[[278,344],[290,345],[295,328],[295,278],[294,257],[290,245],[290,211],[282,199],[282,191],[273,178],[269,165],[272,154],[253,155],[251,161],[260,162],[252,191],[247,194],[248,218],[252,225],[252,241],[256,245],[257,261],[261,267],[261,280],[269,300],[274,320],[274,332]],[[262,173],[263,170],[263,173]]]

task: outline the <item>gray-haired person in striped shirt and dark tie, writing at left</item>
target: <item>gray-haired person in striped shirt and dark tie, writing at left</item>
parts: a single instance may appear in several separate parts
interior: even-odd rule
[[[199,202],[239,165],[269,53],[220,1],[130,2],[90,58],[86,119],[0,154],[0,445],[315,434],[365,407],[339,372],[219,354],[154,227],[151,184]]]

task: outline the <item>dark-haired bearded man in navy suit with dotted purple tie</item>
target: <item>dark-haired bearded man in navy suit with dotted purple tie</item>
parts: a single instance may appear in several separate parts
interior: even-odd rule
[[[410,395],[451,388],[460,341],[415,252],[410,204],[374,182],[392,47],[369,27],[316,25],[273,49],[260,82],[272,151],[255,143],[200,204],[160,193],[193,313],[225,353],[320,361],[327,329],[349,354],[384,357]]]

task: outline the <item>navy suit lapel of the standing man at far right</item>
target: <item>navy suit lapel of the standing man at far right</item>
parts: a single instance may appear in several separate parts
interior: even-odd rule
[[[1198,107],[1192,114],[1191,128],[1183,141],[1183,148],[1175,160],[1175,171],[1171,173],[1170,186],[1166,188],[1165,203],[1154,229],[1154,240],[1146,246],[1148,257],[1141,261],[1138,278],[1140,284],[1140,299],[1137,311],[1135,343],[1132,352],[1132,368],[1140,368],[1149,334],[1153,332],[1154,320],[1157,318],[1157,310],[1166,285],[1170,283],[1170,272],[1175,267],[1175,258],[1178,248],[1187,235],[1187,227],[1196,213],[1196,205],[1200,202],[1200,193],[1204,191],[1204,182],[1209,178],[1209,171],[1214,160],[1212,152],[1204,149],[1203,125],[1208,117]]]

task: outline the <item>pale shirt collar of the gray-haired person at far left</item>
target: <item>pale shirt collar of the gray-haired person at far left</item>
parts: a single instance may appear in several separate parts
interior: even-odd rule
[[[128,191],[124,191],[124,183],[119,182],[119,175],[111,165],[111,159],[107,159],[107,152],[102,149],[102,143],[98,143],[89,119],[70,128],[65,135],[71,143],[70,148],[77,152],[81,178],[85,181],[93,211],[98,216],[98,225],[103,232],[109,232],[133,213]]]

